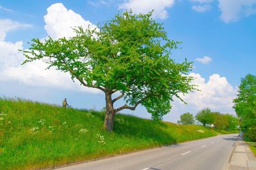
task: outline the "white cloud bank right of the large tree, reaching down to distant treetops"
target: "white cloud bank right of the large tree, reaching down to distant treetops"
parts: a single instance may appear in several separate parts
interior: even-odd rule
[[[227,78],[221,77],[219,74],[212,74],[209,81],[205,81],[205,78],[198,73],[190,73],[189,76],[195,78],[192,83],[197,85],[196,88],[200,91],[181,96],[188,104],[175,99],[170,114],[166,115],[164,120],[177,122],[182,113],[189,112],[195,115],[204,108],[236,115],[232,108],[234,105],[232,101],[236,97],[236,89],[228,83]]]

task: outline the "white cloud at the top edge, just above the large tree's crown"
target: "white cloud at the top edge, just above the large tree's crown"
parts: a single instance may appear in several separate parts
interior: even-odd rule
[[[175,0],[129,0],[125,3],[119,4],[120,10],[130,10],[134,13],[148,13],[154,10],[152,17],[165,19],[168,17],[166,8],[171,8]]]

